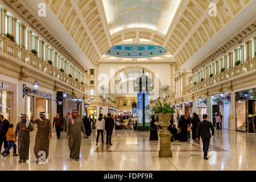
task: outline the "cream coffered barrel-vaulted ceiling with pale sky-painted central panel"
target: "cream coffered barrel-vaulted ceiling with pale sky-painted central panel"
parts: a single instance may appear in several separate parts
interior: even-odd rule
[[[15,6],[32,6],[28,1],[13,2]],[[46,3],[47,11],[55,15],[43,21],[58,21],[56,23],[61,23],[67,32],[64,39],[71,36],[76,43],[76,46],[63,46],[71,51],[79,47],[84,60],[94,66],[110,47],[127,39],[137,44],[143,39],[166,48],[182,67],[238,14],[250,11],[251,18],[255,16],[255,11],[251,11],[255,5],[253,0],[181,0],[176,4],[161,0],[33,0],[31,4],[36,7],[40,2]],[[217,5],[217,16],[209,16],[209,3]],[[28,9],[26,16],[29,11],[32,10]],[[131,24],[136,26],[129,26]],[[51,34],[58,36],[56,31]]]

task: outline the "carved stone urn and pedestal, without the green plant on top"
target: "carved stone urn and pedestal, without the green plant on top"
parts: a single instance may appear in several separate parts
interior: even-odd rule
[[[170,131],[167,130],[167,127],[170,126],[171,113],[159,113],[159,125],[163,127],[160,130],[160,150],[158,152],[159,158],[172,158],[171,152],[171,136]]]

